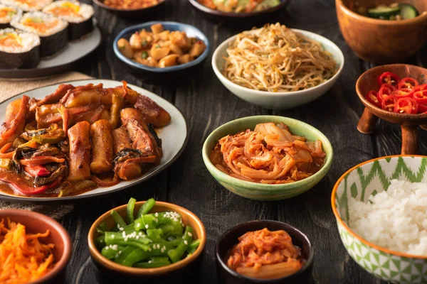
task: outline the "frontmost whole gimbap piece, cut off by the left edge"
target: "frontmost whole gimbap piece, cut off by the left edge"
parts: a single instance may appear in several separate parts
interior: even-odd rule
[[[40,62],[40,38],[33,33],[0,30],[0,68],[33,68]]]

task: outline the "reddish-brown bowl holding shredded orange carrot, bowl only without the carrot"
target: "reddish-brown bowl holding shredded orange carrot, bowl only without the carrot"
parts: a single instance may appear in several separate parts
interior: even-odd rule
[[[40,240],[43,244],[54,244],[53,257],[55,266],[42,278],[28,284],[56,284],[64,283],[65,267],[71,256],[71,241],[68,232],[61,224],[51,217],[28,210],[8,209],[0,210],[0,219],[9,218],[13,222],[18,222],[26,227],[29,234],[44,233],[46,230],[50,234]],[[3,283],[3,282],[2,282]]]

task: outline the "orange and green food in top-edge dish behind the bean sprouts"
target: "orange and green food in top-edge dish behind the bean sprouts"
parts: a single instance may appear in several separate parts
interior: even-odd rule
[[[200,4],[223,12],[253,13],[278,6],[280,0],[198,0]]]

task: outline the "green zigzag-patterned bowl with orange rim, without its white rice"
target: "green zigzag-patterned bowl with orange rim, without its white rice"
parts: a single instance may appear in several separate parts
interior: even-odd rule
[[[389,283],[427,283],[427,256],[392,251],[372,244],[350,229],[351,197],[368,202],[388,190],[390,180],[427,182],[427,156],[392,155],[368,160],[344,173],[332,191],[332,210],[349,255],[369,273]]]

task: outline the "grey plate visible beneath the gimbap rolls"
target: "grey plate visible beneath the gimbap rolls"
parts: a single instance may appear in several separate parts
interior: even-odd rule
[[[42,58],[36,68],[0,69],[0,78],[36,78],[46,77],[73,67],[73,63],[95,50],[101,43],[101,32],[96,26],[93,31],[80,40],[73,40],[56,55]]]

